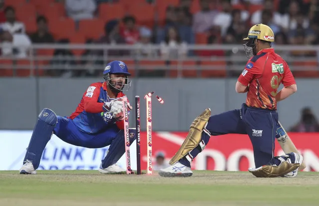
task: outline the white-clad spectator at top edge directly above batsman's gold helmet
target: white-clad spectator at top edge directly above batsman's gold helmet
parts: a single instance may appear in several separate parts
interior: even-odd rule
[[[268,10],[268,11],[272,12],[272,14],[273,14],[272,22],[274,24],[277,24],[277,25],[281,24],[281,15],[280,15],[280,13],[275,11],[274,0],[265,0],[264,9],[257,10],[252,14],[252,17],[251,17],[252,24],[259,24],[262,22],[263,10]]]

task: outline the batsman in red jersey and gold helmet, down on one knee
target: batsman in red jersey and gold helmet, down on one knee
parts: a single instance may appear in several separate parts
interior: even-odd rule
[[[192,176],[191,162],[204,150],[211,135],[230,133],[249,135],[256,168],[248,170],[256,177],[297,176],[303,163],[297,149],[284,149],[287,154],[274,157],[276,137],[287,138],[278,120],[277,102],[297,91],[294,76],[288,64],[271,48],[274,32],[269,26],[254,25],[244,40],[250,59],[238,78],[236,92],[247,93],[246,103],[240,109],[212,116],[207,108],[193,121],[185,141],[170,161],[171,166],[160,170],[160,176]],[[278,92],[281,83],[284,88]]]

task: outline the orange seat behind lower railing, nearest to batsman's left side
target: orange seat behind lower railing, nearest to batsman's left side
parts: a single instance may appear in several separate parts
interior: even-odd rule
[[[202,78],[211,78],[211,77],[226,77],[226,61],[217,60],[217,61],[201,61],[201,77]],[[212,69],[210,69],[210,67]]]

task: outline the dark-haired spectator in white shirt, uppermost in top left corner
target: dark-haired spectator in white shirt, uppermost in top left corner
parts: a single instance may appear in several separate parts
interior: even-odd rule
[[[22,22],[16,21],[15,19],[15,11],[11,6],[7,6],[4,9],[6,22],[1,24],[1,28],[5,31],[10,32],[10,34],[15,33],[25,33],[25,26]]]

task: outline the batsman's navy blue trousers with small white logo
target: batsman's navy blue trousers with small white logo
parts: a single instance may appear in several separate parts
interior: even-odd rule
[[[209,118],[206,129],[212,135],[248,134],[253,145],[255,167],[268,164],[274,157],[278,113],[248,107],[227,111]]]

